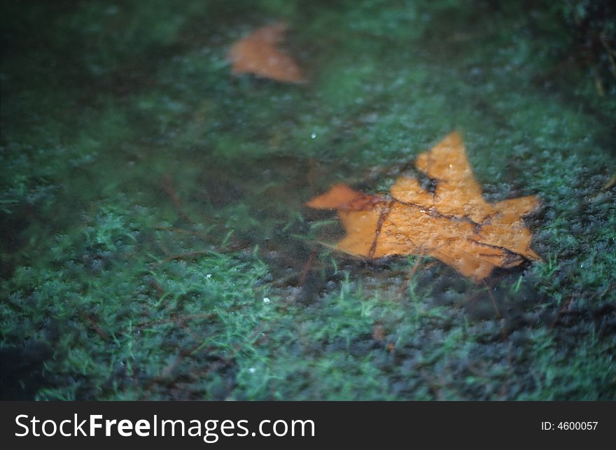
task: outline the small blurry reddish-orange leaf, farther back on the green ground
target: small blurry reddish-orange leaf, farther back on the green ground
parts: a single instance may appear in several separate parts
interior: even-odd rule
[[[286,83],[304,83],[299,66],[276,45],[283,41],[286,24],[261,27],[241,38],[229,50],[228,59],[233,63],[232,73],[254,73]]]

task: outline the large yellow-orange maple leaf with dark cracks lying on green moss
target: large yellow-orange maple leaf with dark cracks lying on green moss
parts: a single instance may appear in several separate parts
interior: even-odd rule
[[[421,188],[415,178],[401,177],[391,186],[391,198],[339,184],[307,205],[337,209],[346,237],[336,248],[362,258],[432,255],[474,281],[494,267],[540,260],[522,220],[539,206],[538,199],[487,203],[460,134],[452,132],[421,153],[415,166],[437,181],[435,192]]]

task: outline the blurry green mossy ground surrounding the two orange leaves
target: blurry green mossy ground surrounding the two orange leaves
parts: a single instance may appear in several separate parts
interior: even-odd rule
[[[546,3],[3,2],[2,398],[615,400],[615,15]],[[454,129],[541,261],[332,248]]]

